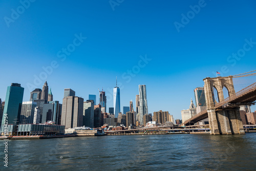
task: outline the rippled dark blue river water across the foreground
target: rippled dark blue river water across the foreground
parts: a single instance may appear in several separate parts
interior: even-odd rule
[[[256,133],[9,140],[2,170],[255,170]]]

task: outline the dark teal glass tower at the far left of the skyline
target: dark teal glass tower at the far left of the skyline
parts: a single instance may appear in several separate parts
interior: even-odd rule
[[[8,117],[8,124],[18,124],[20,119],[20,112],[22,111],[24,88],[20,87],[19,83],[12,83],[7,87],[7,93],[5,98],[5,108],[3,118],[5,114]],[[2,118],[2,125],[4,119]]]

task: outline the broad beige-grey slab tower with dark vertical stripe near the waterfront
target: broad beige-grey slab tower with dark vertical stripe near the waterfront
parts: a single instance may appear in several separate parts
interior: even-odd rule
[[[66,129],[82,126],[83,119],[83,98],[68,96],[63,98],[61,125]]]

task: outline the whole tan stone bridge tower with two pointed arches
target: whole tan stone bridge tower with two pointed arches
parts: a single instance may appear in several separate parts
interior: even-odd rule
[[[203,80],[210,134],[244,134],[239,107],[222,109],[215,108],[215,99],[213,97],[214,88],[218,92],[220,102],[224,100],[224,87],[228,90],[229,97],[236,94],[234,91],[232,76],[216,78],[207,77]]]

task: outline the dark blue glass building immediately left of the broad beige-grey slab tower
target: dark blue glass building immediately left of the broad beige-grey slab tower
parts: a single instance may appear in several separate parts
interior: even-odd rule
[[[62,104],[59,101],[48,101],[42,109],[41,123],[52,121],[57,125],[61,124],[61,111]]]

